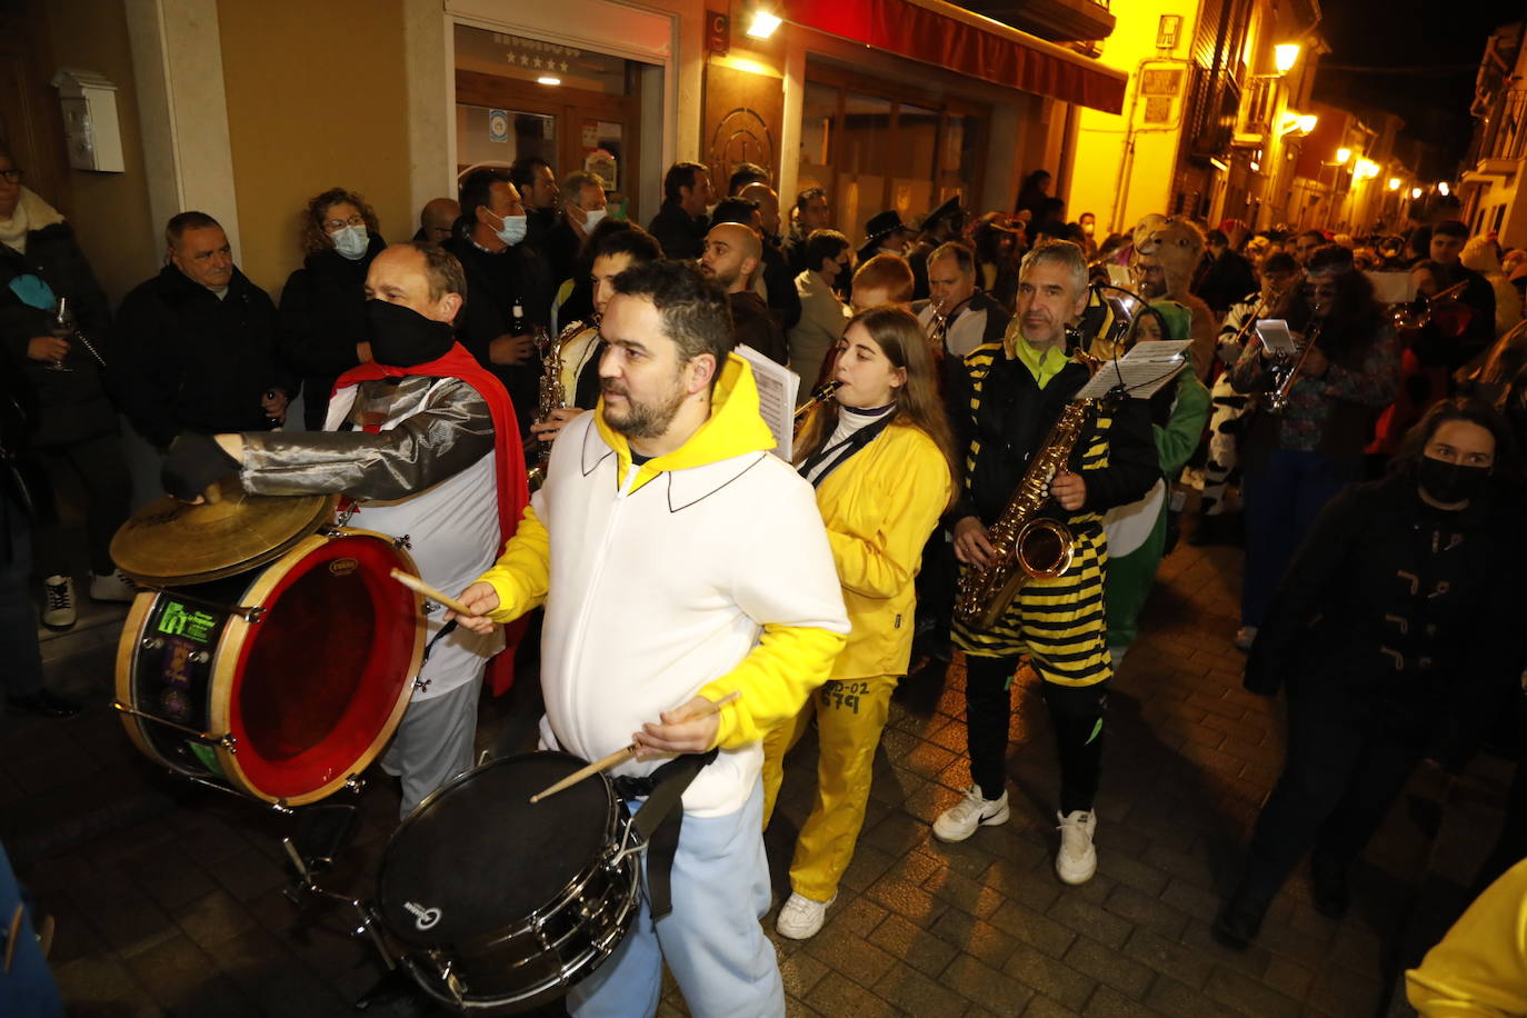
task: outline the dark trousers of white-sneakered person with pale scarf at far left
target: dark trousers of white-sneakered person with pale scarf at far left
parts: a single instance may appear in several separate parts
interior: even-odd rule
[[[47,446],[32,452],[47,469],[52,488],[38,496],[38,511],[43,514],[37,527],[38,575],[70,574],[67,539],[58,522],[56,491],[64,472],[72,472],[84,491],[90,571],[96,575],[110,575],[116,569],[111,563],[111,536],[127,520],[133,499],[133,479],[127,472],[121,437],[113,432],[70,446]]]

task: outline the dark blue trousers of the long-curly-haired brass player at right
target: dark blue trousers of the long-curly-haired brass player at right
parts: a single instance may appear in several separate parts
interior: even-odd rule
[[[1283,574],[1325,504],[1356,481],[1359,459],[1274,449],[1241,479],[1246,502],[1246,574],[1241,626],[1261,626]]]

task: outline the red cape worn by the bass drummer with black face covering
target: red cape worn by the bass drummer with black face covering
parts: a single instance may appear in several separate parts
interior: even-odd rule
[[[403,375],[428,375],[432,379],[461,379],[476,389],[487,403],[493,417],[493,473],[498,479],[498,546],[515,536],[519,517],[530,502],[530,488],[525,485],[525,450],[519,443],[519,424],[515,420],[515,404],[504,389],[504,383],[495,379],[476,359],[467,353],[461,343],[454,343],[446,354],[428,363],[412,368],[391,368],[374,360],[357,365],[339,375],[330,392],[359,382],[374,382],[377,379],[400,379]],[[455,591],[446,591],[454,594]],[[525,633],[525,620],[518,618],[504,626],[504,650],[489,662],[489,684],[493,696],[501,696],[515,682],[515,649]]]

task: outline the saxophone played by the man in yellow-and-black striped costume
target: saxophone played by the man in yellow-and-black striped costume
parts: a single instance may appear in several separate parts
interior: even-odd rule
[[[1093,287],[1093,299],[1112,311],[1093,342],[1125,353],[1133,343],[1132,325],[1145,302],[1119,287]],[[1070,330],[1067,330],[1070,331]],[[1084,353],[1080,336],[1069,336],[1077,359],[1093,374],[1106,363]],[[960,574],[954,589],[954,618],[970,629],[989,630],[1029,580],[1054,580],[1070,568],[1077,542],[1070,528],[1038,514],[1051,501],[1049,485],[1070,459],[1092,414],[1102,400],[1072,400],[1061,411],[1038,453],[1029,461],[1017,490],[988,531],[991,562]]]

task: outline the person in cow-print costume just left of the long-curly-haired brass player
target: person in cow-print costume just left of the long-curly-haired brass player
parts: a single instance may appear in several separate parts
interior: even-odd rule
[[[1281,317],[1287,298],[1299,282],[1299,264],[1292,255],[1278,252],[1261,267],[1261,288],[1231,305],[1219,336],[1219,360],[1229,366],[1240,360],[1248,342],[1257,342],[1257,321]],[[1222,371],[1209,389],[1209,456],[1203,464],[1203,498],[1199,502],[1199,523],[1190,543],[1211,545],[1232,540],[1225,531],[1225,498],[1231,481],[1240,476],[1240,433],[1251,397],[1237,392],[1229,371]]]

